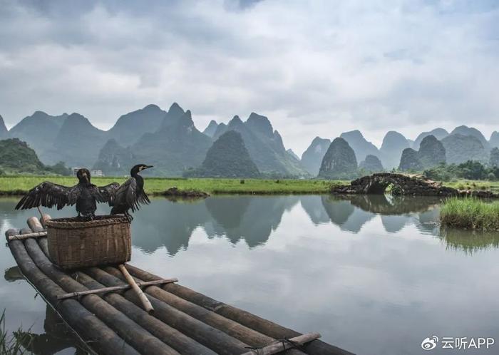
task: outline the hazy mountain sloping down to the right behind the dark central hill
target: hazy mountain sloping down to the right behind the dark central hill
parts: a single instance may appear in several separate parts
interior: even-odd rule
[[[272,128],[267,117],[252,113],[246,122],[242,122],[236,115],[226,127],[219,125],[213,138],[217,139],[228,130],[236,130],[241,134],[249,156],[261,173],[305,174],[299,162],[286,152],[281,135]]]

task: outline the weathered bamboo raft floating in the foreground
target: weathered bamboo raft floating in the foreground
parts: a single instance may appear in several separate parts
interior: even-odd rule
[[[153,307],[146,312],[123,270],[64,272],[48,258],[40,220],[31,217],[28,226],[6,232],[19,269],[93,354],[351,354],[318,340],[320,334],[300,334],[126,264],[125,274]]]

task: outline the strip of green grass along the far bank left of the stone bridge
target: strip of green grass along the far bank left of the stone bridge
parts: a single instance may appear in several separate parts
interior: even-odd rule
[[[63,176],[0,176],[0,193],[21,195],[43,181],[71,186],[78,180]],[[110,182],[123,182],[125,178],[92,178],[96,185]],[[145,190],[151,195],[159,195],[170,187],[180,191],[197,190],[210,194],[320,194],[328,193],[333,185],[349,183],[336,180],[259,180],[244,179],[182,179],[182,178],[145,178]]]

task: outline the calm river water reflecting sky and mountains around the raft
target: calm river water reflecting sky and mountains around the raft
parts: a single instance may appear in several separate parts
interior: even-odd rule
[[[15,203],[0,199],[2,235],[36,215],[14,211]],[[436,200],[390,196],[155,199],[135,213],[132,262],[357,354],[499,354],[499,235],[441,233],[438,210]],[[37,354],[75,354],[14,265],[2,242],[7,329],[40,334]],[[423,351],[432,335],[497,344]]]

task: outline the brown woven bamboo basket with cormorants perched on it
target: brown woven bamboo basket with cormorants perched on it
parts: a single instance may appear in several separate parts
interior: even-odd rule
[[[98,216],[46,221],[48,254],[61,269],[76,269],[130,261],[130,222],[123,216]]]

